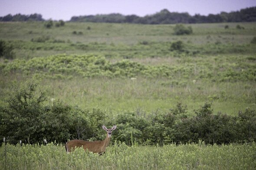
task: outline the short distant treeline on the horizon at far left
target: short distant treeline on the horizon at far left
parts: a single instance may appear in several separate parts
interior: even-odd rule
[[[12,16],[11,14],[8,14],[7,16],[0,17],[0,21],[2,22],[8,22],[8,21],[44,21],[41,14],[31,14],[31,15],[22,15],[22,14],[16,14]]]

